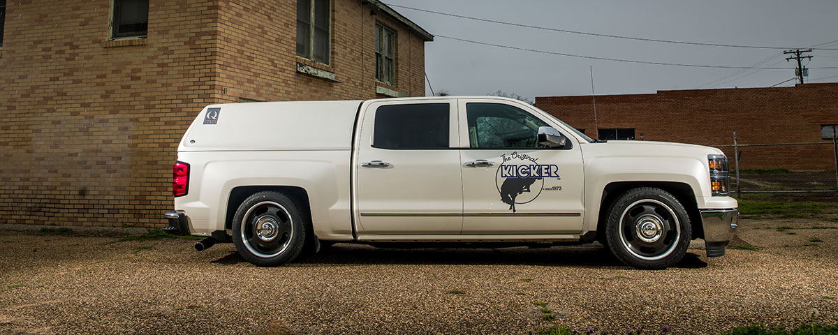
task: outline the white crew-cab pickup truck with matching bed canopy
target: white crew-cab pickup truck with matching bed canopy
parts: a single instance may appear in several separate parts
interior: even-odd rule
[[[173,168],[169,233],[281,265],[335,242],[599,241],[627,265],[724,255],[737,228],[712,147],[592,140],[521,101],[423,97],[212,105]],[[422,242],[422,243],[417,243]]]

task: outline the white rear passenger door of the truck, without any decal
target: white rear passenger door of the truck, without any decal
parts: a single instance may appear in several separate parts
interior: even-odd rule
[[[463,228],[456,100],[373,102],[354,161],[360,234],[459,234]]]

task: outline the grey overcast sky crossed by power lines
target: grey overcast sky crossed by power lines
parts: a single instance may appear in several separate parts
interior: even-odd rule
[[[422,8],[497,21],[547,28],[577,30],[646,39],[667,39],[710,44],[737,44],[804,48],[838,39],[838,1],[779,0],[384,0],[385,3]],[[425,44],[425,67],[433,90],[452,95],[485,95],[497,90],[532,99],[549,95],[590,95],[591,76],[597,95],[654,93],[723,87],[767,87],[794,77],[794,65],[782,49],[741,49],[665,44],[612,39],[573,33],[520,28],[477,22],[394,7],[435,35],[471,39],[518,48],[565,54],[634,59],[664,63],[752,66],[788,70],[746,70],[727,80],[735,69],[705,69],[607,60],[578,59],[552,54],[500,49],[437,37]],[[822,48],[838,49],[838,42]],[[835,78],[838,50],[819,50],[809,67],[809,79]],[[737,77],[747,75],[741,79]],[[781,86],[794,85],[794,80]],[[427,90],[427,86],[426,86]],[[427,90],[427,95],[431,91]]]

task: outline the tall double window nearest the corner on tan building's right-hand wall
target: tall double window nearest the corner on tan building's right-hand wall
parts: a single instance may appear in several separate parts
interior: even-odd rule
[[[297,0],[297,56],[328,64],[330,0]]]

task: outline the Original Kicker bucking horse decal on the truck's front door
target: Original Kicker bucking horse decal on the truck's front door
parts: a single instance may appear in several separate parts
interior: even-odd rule
[[[544,187],[545,178],[561,180],[558,165],[539,164],[538,157],[518,152],[500,157],[504,162],[494,175],[494,185],[500,193],[500,201],[510,205],[512,213],[515,213],[516,204],[529,204],[541,195],[542,190],[561,191],[561,186]],[[533,188],[538,192],[533,192]]]

